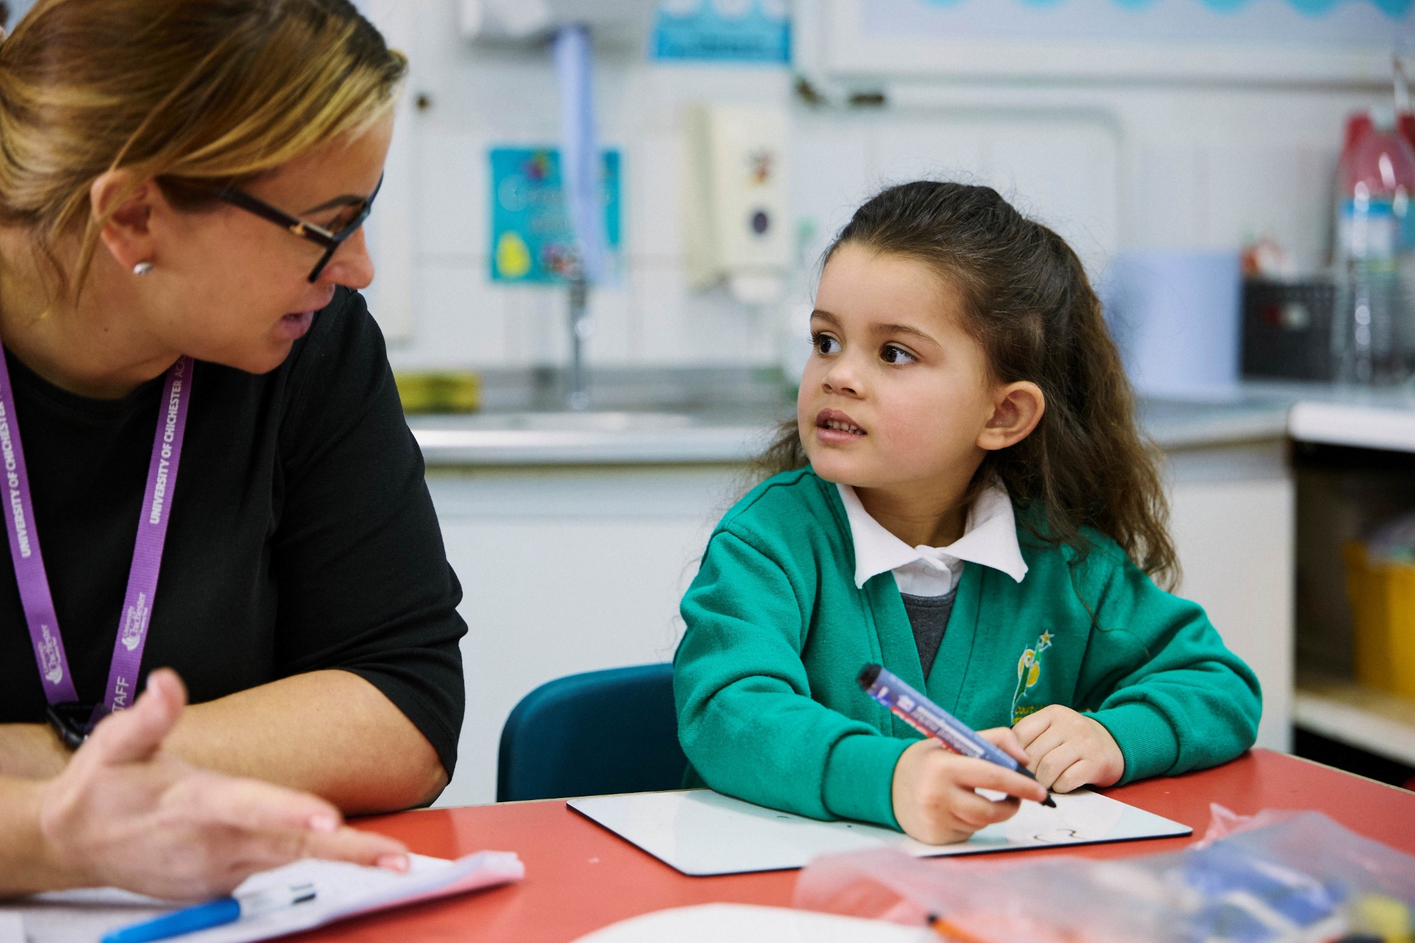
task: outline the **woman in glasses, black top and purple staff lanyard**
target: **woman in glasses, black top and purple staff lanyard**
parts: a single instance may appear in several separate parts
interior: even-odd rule
[[[38,0],[0,41],[0,893],[79,879],[24,848],[105,776],[157,783],[119,820],[255,789],[258,838],[368,858],[331,816],[451,775],[460,588],[358,295],[405,71],[348,0]]]

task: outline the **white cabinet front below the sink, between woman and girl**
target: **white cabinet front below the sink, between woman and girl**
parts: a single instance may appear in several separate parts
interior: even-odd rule
[[[732,466],[429,473],[463,585],[467,715],[439,806],[490,803],[511,708],[579,671],[668,661]]]

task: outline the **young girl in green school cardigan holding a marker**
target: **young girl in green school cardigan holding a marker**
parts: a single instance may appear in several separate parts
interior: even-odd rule
[[[815,307],[775,474],[683,596],[689,780],[942,844],[1249,748],[1258,680],[1150,581],[1176,571],[1160,477],[1070,246],[988,187],[903,184],[841,232]],[[920,739],[866,663],[1036,782]]]

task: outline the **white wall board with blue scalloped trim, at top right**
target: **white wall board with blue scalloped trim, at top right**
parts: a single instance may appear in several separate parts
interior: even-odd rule
[[[1373,84],[1390,79],[1392,52],[1415,57],[1402,0],[819,3],[826,71],[841,76]]]

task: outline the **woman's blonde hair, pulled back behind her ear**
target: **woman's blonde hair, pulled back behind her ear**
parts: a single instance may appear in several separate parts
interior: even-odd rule
[[[0,225],[27,229],[76,296],[108,222],[99,176],[133,174],[113,208],[156,180],[201,210],[214,184],[378,120],[406,71],[348,0],[38,0],[0,41]]]

